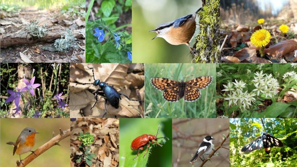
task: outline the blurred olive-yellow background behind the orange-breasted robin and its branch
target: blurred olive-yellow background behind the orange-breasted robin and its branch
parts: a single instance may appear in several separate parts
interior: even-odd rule
[[[23,119],[1,119],[0,122],[0,167],[15,167],[19,156],[12,156],[13,147],[7,145],[6,142],[15,142],[20,132],[26,128],[34,128],[39,134],[35,135],[35,146],[32,151],[42,146],[59,134],[59,128],[67,130],[70,128],[69,118],[23,118]],[[69,167],[70,166],[70,138],[67,137],[59,142],[61,146],[53,146],[39,157],[29,163],[29,167]],[[23,160],[29,156],[31,152],[20,155]]]

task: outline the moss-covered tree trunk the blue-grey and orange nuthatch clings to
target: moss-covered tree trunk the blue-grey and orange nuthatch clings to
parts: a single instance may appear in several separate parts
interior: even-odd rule
[[[206,0],[198,12],[200,33],[196,36],[193,63],[216,63],[219,56],[220,1]]]

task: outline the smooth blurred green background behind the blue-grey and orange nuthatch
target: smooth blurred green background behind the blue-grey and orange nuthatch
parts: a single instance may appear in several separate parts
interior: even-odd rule
[[[133,0],[132,2],[132,62],[189,63],[192,58],[187,45],[171,45],[163,38],[148,32],[158,25],[192,14],[202,6],[201,0]],[[196,22],[198,16],[196,16]],[[198,33],[197,25],[196,33]],[[194,34],[194,36],[195,36]],[[195,39],[192,38],[191,45]]]

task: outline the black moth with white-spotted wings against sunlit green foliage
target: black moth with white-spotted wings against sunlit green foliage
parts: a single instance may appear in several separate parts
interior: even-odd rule
[[[263,133],[262,136],[259,136],[257,139],[253,140],[251,143],[244,146],[241,151],[244,153],[250,153],[254,150],[259,150],[264,147],[264,150],[267,154],[270,153],[271,148],[273,147],[283,147],[284,144],[281,140],[267,134]]]

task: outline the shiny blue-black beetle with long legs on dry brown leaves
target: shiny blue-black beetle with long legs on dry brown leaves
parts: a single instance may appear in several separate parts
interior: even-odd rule
[[[96,102],[91,107],[91,109],[97,104],[97,102],[98,102],[98,95],[104,97],[104,99],[105,99],[105,101],[104,101],[105,113],[103,114],[103,117],[102,118],[104,118],[104,116],[107,114],[107,111],[106,111],[106,103],[107,103],[107,101],[114,108],[116,108],[116,109],[119,108],[119,103],[120,103],[120,100],[121,100],[121,96],[120,95],[125,96],[128,100],[131,100],[131,101],[141,101],[141,100],[136,100],[136,99],[130,99],[127,95],[122,94],[122,93],[119,93],[117,90],[115,90],[113,88],[113,86],[110,86],[110,85],[108,85],[105,82],[100,82],[99,79],[95,79],[95,77],[94,77],[94,69],[93,68],[89,68],[89,69],[92,69],[94,82],[93,83],[77,83],[77,84],[81,84],[81,85],[91,84],[91,85],[94,85],[94,86],[99,86],[99,88],[97,90],[95,90],[94,92],[92,92],[93,94],[95,93],[95,100],[96,100]]]

